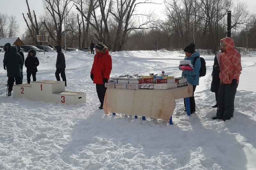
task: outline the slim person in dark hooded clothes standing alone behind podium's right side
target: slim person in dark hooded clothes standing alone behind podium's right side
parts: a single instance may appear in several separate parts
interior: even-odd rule
[[[62,81],[65,81],[65,86],[67,86],[67,80],[66,80],[66,74],[65,74],[65,69],[66,69],[66,60],[64,53],[62,53],[61,46],[56,46],[55,47],[57,50],[57,60],[56,60],[56,72],[55,72],[55,77],[57,81],[60,81],[60,76],[62,78]]]

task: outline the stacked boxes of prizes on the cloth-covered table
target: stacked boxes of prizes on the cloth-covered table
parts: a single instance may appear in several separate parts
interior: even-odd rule
[[[125,75],[119,77],[112,77],[105,84],[109,89],[175,89],[178,87],[187,86],[187,79],[185,77],[174,78],[167,75]]]

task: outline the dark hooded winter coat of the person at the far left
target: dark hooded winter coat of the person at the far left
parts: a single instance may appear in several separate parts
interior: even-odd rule
[[[4,66],[7,69],[8,77],[20,77],[20,65],[23,65],[24,61],[20,54],[17,53],[15,47],[11,47],[8,52],[8,56],[4,57]]]

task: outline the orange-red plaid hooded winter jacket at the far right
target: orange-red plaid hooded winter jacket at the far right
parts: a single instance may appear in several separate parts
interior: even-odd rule
[[[220,82],[231,84],[233,79],[239,83],[239,77],[242,71],[241,55],[234,48],[234,40],[231,37],[221,39],[227,48],[220,56]]]

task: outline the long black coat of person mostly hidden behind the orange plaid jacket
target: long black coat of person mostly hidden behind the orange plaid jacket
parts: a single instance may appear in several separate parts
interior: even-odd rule
[[[217,53],[216,53],[217,54]],[[218,92],[220,86],[220,66],[217,60],[217,56],[215,54],[214,64],[212,68],[212,84],[211,84],[211,92]]]

